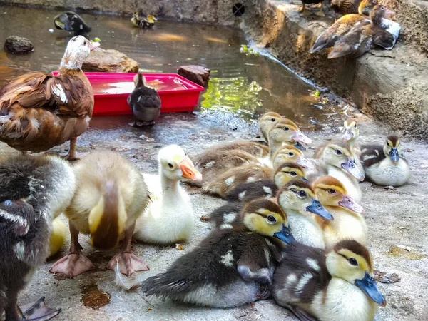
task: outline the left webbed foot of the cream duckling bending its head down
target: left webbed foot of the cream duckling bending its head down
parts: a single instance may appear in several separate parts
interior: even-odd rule
[[[68,255],[59,259],[51,266],[49,272],[51,273],[64,273],[68,277],[73,278],[76,275],[79,275],[88,270],[95,268],[95,265],[86,258],[81,252],[78,253],[68,253]]]

